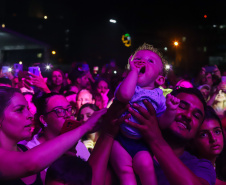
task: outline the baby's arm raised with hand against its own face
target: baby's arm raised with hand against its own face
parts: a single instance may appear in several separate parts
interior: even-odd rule
[[[140,71],[140,68],[135,66],[134,60],[132,60],[132,55],[129,58],[129,64],[130,71],[115,93],[116,98],[123,103],[128,103],[134,95]]]

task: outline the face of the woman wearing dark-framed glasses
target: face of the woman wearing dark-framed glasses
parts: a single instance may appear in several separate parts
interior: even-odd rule
[[[44,121],[47,123],[47,129],[51,130],[54,135],[58,135],[60,130],[67,119],[74,119],[73,115],[70,115],[67,111],[64,117],[58,117],[56,112],[53,110],[63,108],[70,108],[70,103],[62,95],[55,95],[49,98],[46,112],[50,112],[47,115],[44,115]]]

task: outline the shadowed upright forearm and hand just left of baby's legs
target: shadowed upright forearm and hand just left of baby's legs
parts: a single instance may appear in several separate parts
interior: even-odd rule
[[[111,107],[109,107],[107,114],[103,116],[105,126],[88,160],[93,171],[92,185],[103,185],[105,182],[114,137],[118,132],[119,124],[122,123],[125,118],[129,117],[129,115],[127,115],[127,117],[117,119],[125,111],[125,108],[125,104],[114,101]]]

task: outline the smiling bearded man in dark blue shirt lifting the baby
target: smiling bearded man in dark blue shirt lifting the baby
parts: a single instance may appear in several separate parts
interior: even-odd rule
[[[216,174],[211,162],[185,151],[203,122],[205,100],[195,88],[179,88],[171,94],[180,99],[180,104],[169,128],[160,130],[155,110],[148,101],[144,101],[148,111],[137,104],[133,107],[139,112],[129,108],[141,125],[129,120],[126,122],[141,132],[153,153],[159,185],[214,185]]]

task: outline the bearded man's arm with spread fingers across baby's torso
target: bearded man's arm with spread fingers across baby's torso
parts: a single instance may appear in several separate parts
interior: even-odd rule
[[[139,113],[129,108],[129,112],[137,118],[140,123],[142,123],[141,125],[133,123],[129,120],[125,121],[129,125],[140,130],[145,141],[161,166],[161,169],[164,171],[169,184],[207,185],[208,182],[205,179],[196,176],[181,162],[169,144],[164,140],[158,126],[153,106],[148,101],[144,101],[144,104],[148,111],[139,105],[134,105],[134,108],[136,108]]]

